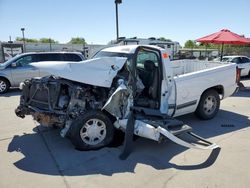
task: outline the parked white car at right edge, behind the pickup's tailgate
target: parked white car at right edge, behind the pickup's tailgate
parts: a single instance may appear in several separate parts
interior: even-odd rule
[[[236,63],[241,69],[241,76],[250,77],[250,59],[247,56],[224,56],[222,62]]]

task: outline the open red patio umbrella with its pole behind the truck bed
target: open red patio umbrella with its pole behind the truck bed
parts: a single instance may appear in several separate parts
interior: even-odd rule
[[[213,44],[222,44],[221,46],[221,59],[223,55],[223,46],[224,44],[250,44],[250,40],[240,36],[236,33],[229,31],[228,29],[222,29],[217,33],[207,35],[205,37],[199,38],[196,40],[201,43],[213,43]]]

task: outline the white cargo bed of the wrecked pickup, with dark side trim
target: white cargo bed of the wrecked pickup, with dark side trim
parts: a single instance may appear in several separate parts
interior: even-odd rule
[[[176,82],[175,116],[194,112],[203,92],[221,88],[221,99],[232,95],[236,84],[236,65],[220,62],[178,60],[171,61]]]

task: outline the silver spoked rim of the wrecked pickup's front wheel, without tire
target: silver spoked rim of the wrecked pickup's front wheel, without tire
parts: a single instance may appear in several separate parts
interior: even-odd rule
[[[80,130],[82,141],[92,146],[101,143],[106,134],[106,125],[99,119],[89,119]]]

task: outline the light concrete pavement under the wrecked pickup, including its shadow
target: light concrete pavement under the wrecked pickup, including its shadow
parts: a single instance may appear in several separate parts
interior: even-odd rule
[[[221,102],[216,118],[180,117],[221,149],[187,149],[139,138],[125,161],[121,146],[77,151],[58,129],[40,127],[14,109],[19,90],[0,96],[0,188],[250,187],[250,79]]]

